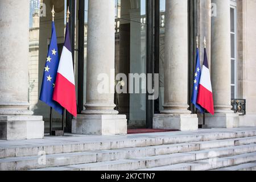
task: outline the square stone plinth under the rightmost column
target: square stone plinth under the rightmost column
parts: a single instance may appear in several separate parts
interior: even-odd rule
[[[235,113],[205,114],[205,125],[216,128],[239,127],[239,115]]]

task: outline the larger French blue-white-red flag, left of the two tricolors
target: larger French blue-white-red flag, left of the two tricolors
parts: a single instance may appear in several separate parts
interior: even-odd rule
[[[68,23],[52,99],[67,109],[73,116],[77,116],[75,76]]]

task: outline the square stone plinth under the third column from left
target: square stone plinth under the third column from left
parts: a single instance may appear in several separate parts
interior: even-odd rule
[[[155,114],[153,128],[195,131],[198,130],[197,114]]]

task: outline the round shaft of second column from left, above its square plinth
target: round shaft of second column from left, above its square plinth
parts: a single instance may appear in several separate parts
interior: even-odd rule
[[[86,110],[83,114],[118,114],[114,110],[114,1],[89,1]],[[111,73],[112,72],[112,73]],[[105,74],[107,93],[99,93],[98,76]]]

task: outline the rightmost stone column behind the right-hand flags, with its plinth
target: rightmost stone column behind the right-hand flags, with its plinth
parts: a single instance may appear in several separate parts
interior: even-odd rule
[[[231,110],[230,2],[212,0],[217,14],[212,16],[211,77],[215,115],[207,114],[209,127],[238,127],[238,114]]]

